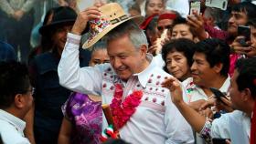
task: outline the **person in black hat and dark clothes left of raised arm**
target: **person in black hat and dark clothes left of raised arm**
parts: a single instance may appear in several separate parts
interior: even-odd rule
[[[68,6],[49,10],[44,25],[39,29],[42,35],[42,49],[45,53],[32,58],[30,65],[31,83],[35,87],[34,133],[37,144],[58,142],[59,128],[63,115],[61,105],[69,98],[71,91],[59,85],[57,67],[64,49],[67,33],[77,18],[76,12]],[[80,53],[80,67],[87,64],[86,56]],[[31,112],[32,115],[34,114]]]

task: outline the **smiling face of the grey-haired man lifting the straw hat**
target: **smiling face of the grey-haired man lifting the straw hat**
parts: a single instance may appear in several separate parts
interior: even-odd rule
[[[128,36],[110,41],[107,50],[112,67],[123,80],[128,80],[133,74],[144,70],[146,46],[135,49]]]

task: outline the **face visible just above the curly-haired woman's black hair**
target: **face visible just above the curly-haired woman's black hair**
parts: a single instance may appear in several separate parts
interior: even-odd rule
[[[186,24],[177,24],[173,27],[171,39],[187,38],[194,40],[193,34],[189,30],[189,26]]]

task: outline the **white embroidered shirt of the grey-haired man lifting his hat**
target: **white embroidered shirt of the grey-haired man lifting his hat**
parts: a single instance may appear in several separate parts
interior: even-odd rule
[[[123,97],[135,89],[144,92],[133,116],[119,129],[122,139],[136,144],[194,142],[192,129],[171,102],[169,90],[161,87],[165,77],[170,75],[156,66],[152,56],[147,57],[150,65],[143,72],[133,74],[126,83],[114,73],[110,64],[80,68],[79,44],[80,36],[69,33],[58,67],[59,82],[63,87],[100,95],[103,104],[112,102],[115,83],[125,86]],[[106,125],[105,120],[103,123]]]

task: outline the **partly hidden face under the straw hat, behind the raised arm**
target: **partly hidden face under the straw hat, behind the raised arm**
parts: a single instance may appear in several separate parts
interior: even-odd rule
[[[97,49],[91,54],[90,66],[109,63],[110,57],[108,56],[107,49]]]

